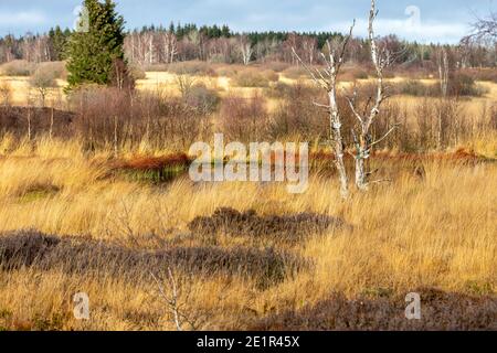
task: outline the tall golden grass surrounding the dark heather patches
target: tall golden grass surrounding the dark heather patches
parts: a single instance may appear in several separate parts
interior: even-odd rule
[[[334,179],[313,176],[302,195],[288,194],[281,184],[193,185],[186,179],[157,188],[104,179],[103,157],[88,159],[77,142],[44,140],[34,150],[21,146],[0,158],[0,231],[36,228],[126,240],[131,229],[138,237],[154,232],[167,239],[172,236],[168,229],[184,232],[193,217],[222,206],[261,214],[315,212],[340,216],[353,226],[299,244],[293,250],[315,267],[265,291],[236,278],[189,279],[187,307],[194,315],[209,313],[203,328],[243,329],[241,318],[247,313],[300,308],[334,291],[348,297],[379,289],[406,293],[420,287],[472,295],[497,291],[495,163],[426,162],[424,180],[405,168],[392,184],[343,203]],[[31,190],[50,186],[56,186],[55,192],[25,197]],[[173,329],[150,284],[28,269],[2,272],[0,284],[0,311],[8,317],[0,319],[0,327]],[[92,298],[91,322],[71,315],[71,296],[77,291]]]

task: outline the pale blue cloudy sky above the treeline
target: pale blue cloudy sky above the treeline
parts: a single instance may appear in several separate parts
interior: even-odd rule
[[[345,31],[357,19],[366,32],[369,0],[117,0],[128,28],[170,21],[229,24],[237,31]],[[81,0],[0,0],[0,35],[72,26]],[[475,15],[497,9],[497,0],[378,0],[379,34],[420,42],[457,42]]]

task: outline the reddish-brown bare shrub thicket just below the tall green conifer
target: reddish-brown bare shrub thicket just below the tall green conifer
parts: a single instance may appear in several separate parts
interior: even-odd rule
[[[209,128],[208,103],[188,104],[160,92],[87,87],[71,96],[76,111],[73,130],[92,150],[134,148],[145,139],[152,148],[183,151]]]

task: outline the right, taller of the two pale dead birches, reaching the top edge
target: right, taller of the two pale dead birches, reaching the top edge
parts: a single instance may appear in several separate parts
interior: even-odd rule
[[[367,170],[367,161],[369,160],[374,146],[383,141],[390,133],[392,133],[398,125],[394,125],[383,137],[374,140],[371,133],[374,121],[377,120],[381,105],[387,99],[384,87],[384,69],[391,62],[391,54],[387,49],[379,49],[377,39],[374,35],[374,20],[377,19],[378,11],[376,9],[374,0],[371,0],[371,11],[369,14],[369,42],[371,51],[371,60],[377,74],[377,88],[376,97],[370,97],[362,113],[359,111],[356,106],[357,89],[352,97],[347,97],[350,109],[353,116],[357,118],[357,129],[352,129],[353,143],[356,147],[356,154],[353,159],[356,161],[356,186],[360,191],[367,191],[371,183],[378,183],[380,181],[369,181],[372,175],[372,171]]]

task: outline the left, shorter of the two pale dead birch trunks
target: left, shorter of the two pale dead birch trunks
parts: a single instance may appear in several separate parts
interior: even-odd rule
[[[345,54],[347,51],[347,46],[352,38],[353,26],[356,25],[356,21],[350,28],[349,34],[343,39],[340,45],[340,51],[337,52],[332,49],[329,41],[326,42],[326,45],[329,51],[329,55],[325,55],[321,53],[321,57],[325,62],[326,67],[324,69],[309,67],[297,54],[295,47],[292,47],[292,52],[294,56],[298,60],[298,62],[305,67],[305,69],[309,73],[313,81],[322,89],[326,90],[328,96],[328,104],[321,105],[315,103],[316,106],[325,108],[329,113],[329,124],[330,124],[330,145],[332,147],[335,153],[335,165],[338,170],[339,182],[340,182],[340,194],[342,199],[348,199],[349,196],[349,181],[347,178],[347,170],[345,167],[345,145],[343,138],[341,133],[341,117],[340,111],[338,109],[337,103],[337,77],[340,73],[340,68],[343,64]]]

